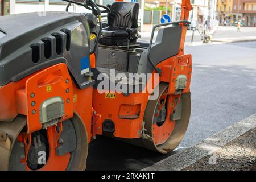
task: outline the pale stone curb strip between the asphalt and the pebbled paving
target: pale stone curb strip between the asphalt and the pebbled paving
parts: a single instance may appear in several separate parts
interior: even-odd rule
[[[198,162],[200,159],[203,159],[205,156],[220,150],[221,147],[224,147],[232,140],[255,127],[256,114],[253,114],[211,137],[204,139],[195,146],[185,148],[177,154],[171,155],[150,167],[142,169],[142,171],[180,171]]]

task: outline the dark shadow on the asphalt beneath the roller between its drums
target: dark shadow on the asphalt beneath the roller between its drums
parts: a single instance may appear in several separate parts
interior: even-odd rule
[[[175,153],[162,155],[119,140],[97,136],[89,144],[86,170],[141,170]]]

